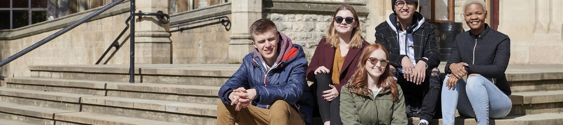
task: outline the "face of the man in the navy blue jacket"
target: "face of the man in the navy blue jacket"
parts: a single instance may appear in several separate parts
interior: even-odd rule
[[[275,60],[277,58],[279,35],[277,32],[265,32],[261,35],[252,34],[252,44],[260,52],[264,60]]]

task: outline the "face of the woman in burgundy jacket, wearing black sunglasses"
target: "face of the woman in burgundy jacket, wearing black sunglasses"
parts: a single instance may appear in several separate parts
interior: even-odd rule
[[[338,17],[338,16],[344,18],[344,20],[342,20],[342,23],[336,23],[336,17]],[[352,11],[350,11],[350,10],[341,10],[341,11],[338,11],[336,13],[336,15],[334,16],[333,21],[332,21],[334,23],[333,25],[334,25],[334,28],[336,29],[336,32],[338,32],[338,33],[351,33],[352,30],[354,30],[354,28],[356,28],[356,26],[358,26],[357,25],[358,24],[357,19],[354,19],[354,21],[352,21],[351,24],[348,24],[348,23],[346,23],[346,17],[354,18],[354,14],[352,14]]]

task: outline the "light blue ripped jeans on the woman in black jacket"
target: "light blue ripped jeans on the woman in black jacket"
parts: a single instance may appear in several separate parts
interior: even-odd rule
[[[444,125],[454,124],[455,109],[464,117],[477,118],[477,124],[489,124],[489,118],[506,117],[512,109],[512,101],[497,86],[479,74],[471,74],[467,82],[459,79],[450,90],[442,86],[442,117]],[[490,101],[489,101],[490,100]]]

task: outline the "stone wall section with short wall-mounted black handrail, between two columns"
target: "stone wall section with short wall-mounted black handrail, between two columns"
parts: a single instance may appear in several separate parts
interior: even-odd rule
[[[231,3],[209,6],[171,15],[171,26],[207,20],[231,18]],[[231,24],[221,23],[226,17],[170,28],[173,64],[226,64],[229,54]],[[230,21],[230,20],[229,20]],[[223,24],[226,24],[224,26]]]

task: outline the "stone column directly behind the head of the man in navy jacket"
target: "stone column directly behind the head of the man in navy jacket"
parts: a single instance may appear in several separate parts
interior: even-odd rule
[[[229,63],[241,63],[243,57],[254,51],[248,29],[262,19],[262,0],[238,0],[231,3],[231,41]]]

